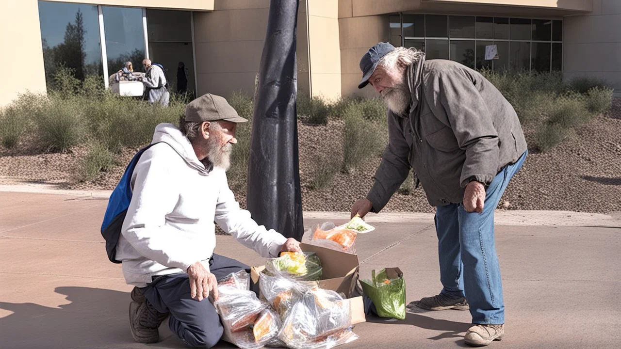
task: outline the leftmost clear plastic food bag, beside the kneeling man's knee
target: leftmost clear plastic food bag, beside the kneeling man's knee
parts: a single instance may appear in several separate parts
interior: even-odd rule
[[[278,335],[281,320],[270,306],[248,291],[248,273],[240,271],[218,283],[219,298],[214,302],[229,340],[240,348],[264,347]]]

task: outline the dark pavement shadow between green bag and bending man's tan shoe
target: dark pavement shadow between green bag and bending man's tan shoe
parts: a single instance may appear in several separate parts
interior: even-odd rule
[[[366,317],[366,322],[371,322],[374,324],[412,325],[426,330],[445,331],[440,335],[428,338],[432,340],[439,340],[443,338],[459,338],[461,340],[463,338],[463,333],[465,333],[466,330],[468,330],[471,326],[471,324],[466,324],[465,322],[438,320],[433,319],[432,317],[420,315],[420,313],[415,314],[414,312],[410,311],[406,313],[405,320],[384,319],[381,317],[368,315]]]

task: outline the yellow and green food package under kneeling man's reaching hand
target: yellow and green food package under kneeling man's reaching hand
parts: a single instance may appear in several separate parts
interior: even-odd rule
[[[320,280],[323,269],[314,252],[283,252],[278,258],[269,258],[265,263],[268,274],[283,275],[296,280]]]

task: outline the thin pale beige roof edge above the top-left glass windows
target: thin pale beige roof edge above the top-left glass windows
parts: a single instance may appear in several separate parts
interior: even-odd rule
[[[2,0],[7,1],[7,0]],[[13,0],[8,0],[13,1]],[[27,0],[29,1],[29,0]],[[50,1],[50,0],[43,0]],[[76,2],[106,6],[149,7],[151,9],[184,9],[194,11],[213,11],[214,0],[53,0],[55,2]]]

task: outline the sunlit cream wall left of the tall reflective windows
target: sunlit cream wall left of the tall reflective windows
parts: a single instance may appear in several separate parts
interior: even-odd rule
[[[0,50],[0,107],[27,90],[45,92],[37,0],[0,1]]]

